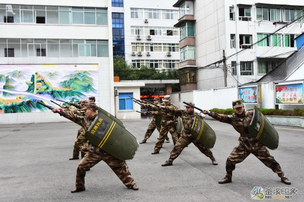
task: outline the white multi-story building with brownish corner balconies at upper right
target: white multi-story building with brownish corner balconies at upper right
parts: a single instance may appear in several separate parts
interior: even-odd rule
[[[293,39],[304,31],[303,1],[179,0],[174,7],[181,90],[256,81],[296,51]]]

